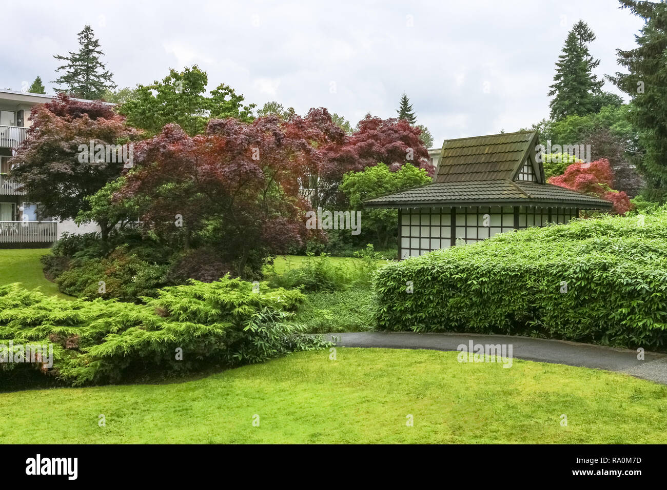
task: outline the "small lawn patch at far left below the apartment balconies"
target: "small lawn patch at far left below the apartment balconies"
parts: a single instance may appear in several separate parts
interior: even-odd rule
[[[69,299],[44,277],[39,257],[48,252],[49,249],[0,249],[0,285],[22,283],[27,289],[39,287],[47,295]]]

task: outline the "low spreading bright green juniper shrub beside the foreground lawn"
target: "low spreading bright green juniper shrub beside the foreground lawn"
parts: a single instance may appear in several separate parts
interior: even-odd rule
[[[118,383],[328,347],[289,321],[304,299],[299,291],[269,289],[265,283],[258,290],[229,277],[167,287],[140,305],[63,301],[5,285],[0,287],[0,349],[9,341],[15,348],[50,344],[54,359],[52,369],[0,363],[0,377],[25,379],[23,369],[32,369],[69,385]]]

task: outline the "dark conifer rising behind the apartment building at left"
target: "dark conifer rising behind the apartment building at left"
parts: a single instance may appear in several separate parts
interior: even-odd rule
[[[116,84],[111,80],[111,72],[105,70],[105,64],[99,60],[104,53],[99,49],[93,29],[86,25],[78,36],[81,48],[77,53],[70,51],[69,56],[54,56],[66,63],[56,69],[64,73],[53,83],[65,85],[64,89],[56,89],[58,92],[81,99],[99,99],[106,89],[115,89]]]

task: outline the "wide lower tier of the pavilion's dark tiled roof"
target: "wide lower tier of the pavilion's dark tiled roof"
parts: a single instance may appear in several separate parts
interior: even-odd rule
[[[365,201],[366,207],[430,207],[432,205],[557,205],[580,209],[609,209],[612,203],[570,191],[564,187],[535,182],[474,180],[436,182]]]

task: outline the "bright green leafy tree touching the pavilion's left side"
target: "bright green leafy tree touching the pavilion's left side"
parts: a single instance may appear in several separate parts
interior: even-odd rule
[[[374,241],[379,249],[386,249],[396,240],[398,212],[396,209],[365,209],[364,200],[372,199],[411,187],[431,183],[426,170],[407,163],[392,172],[384,163],[368,167],[364,171],[346,173],[340,190],[350,199],[350,207],[362,210],[362,234],[360,239]]]

